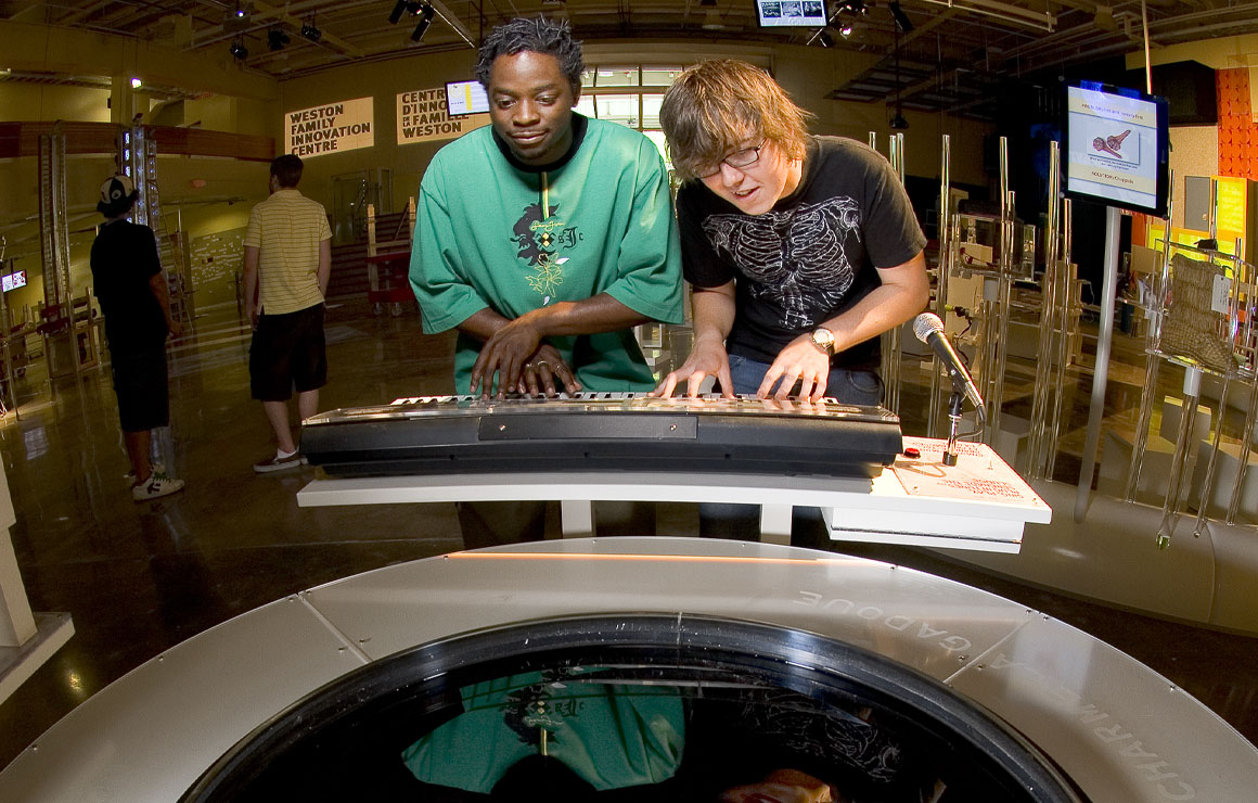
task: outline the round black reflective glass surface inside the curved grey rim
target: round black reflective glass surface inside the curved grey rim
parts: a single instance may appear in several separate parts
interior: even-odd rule
[[[766,624],[599,614],[362,667],[243,739],[182,798],[278,799],[1084,798],[1008,725],[882,656]]]

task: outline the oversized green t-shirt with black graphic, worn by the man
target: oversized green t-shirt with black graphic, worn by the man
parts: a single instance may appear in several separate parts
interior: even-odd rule
[[[616,123],[574,115],[572,128],[572,151],[546,170],[508,159],[492,126],[433,157],[410,259],[424,331],[445,331],[486,307],[516,318],[596,293],[657,321],[682,321],[681,248],[659,152]],[[586,390],[654,386],[632,330],[547,340]],[[479,351],[459,335],[455,393],[468,391]]]

